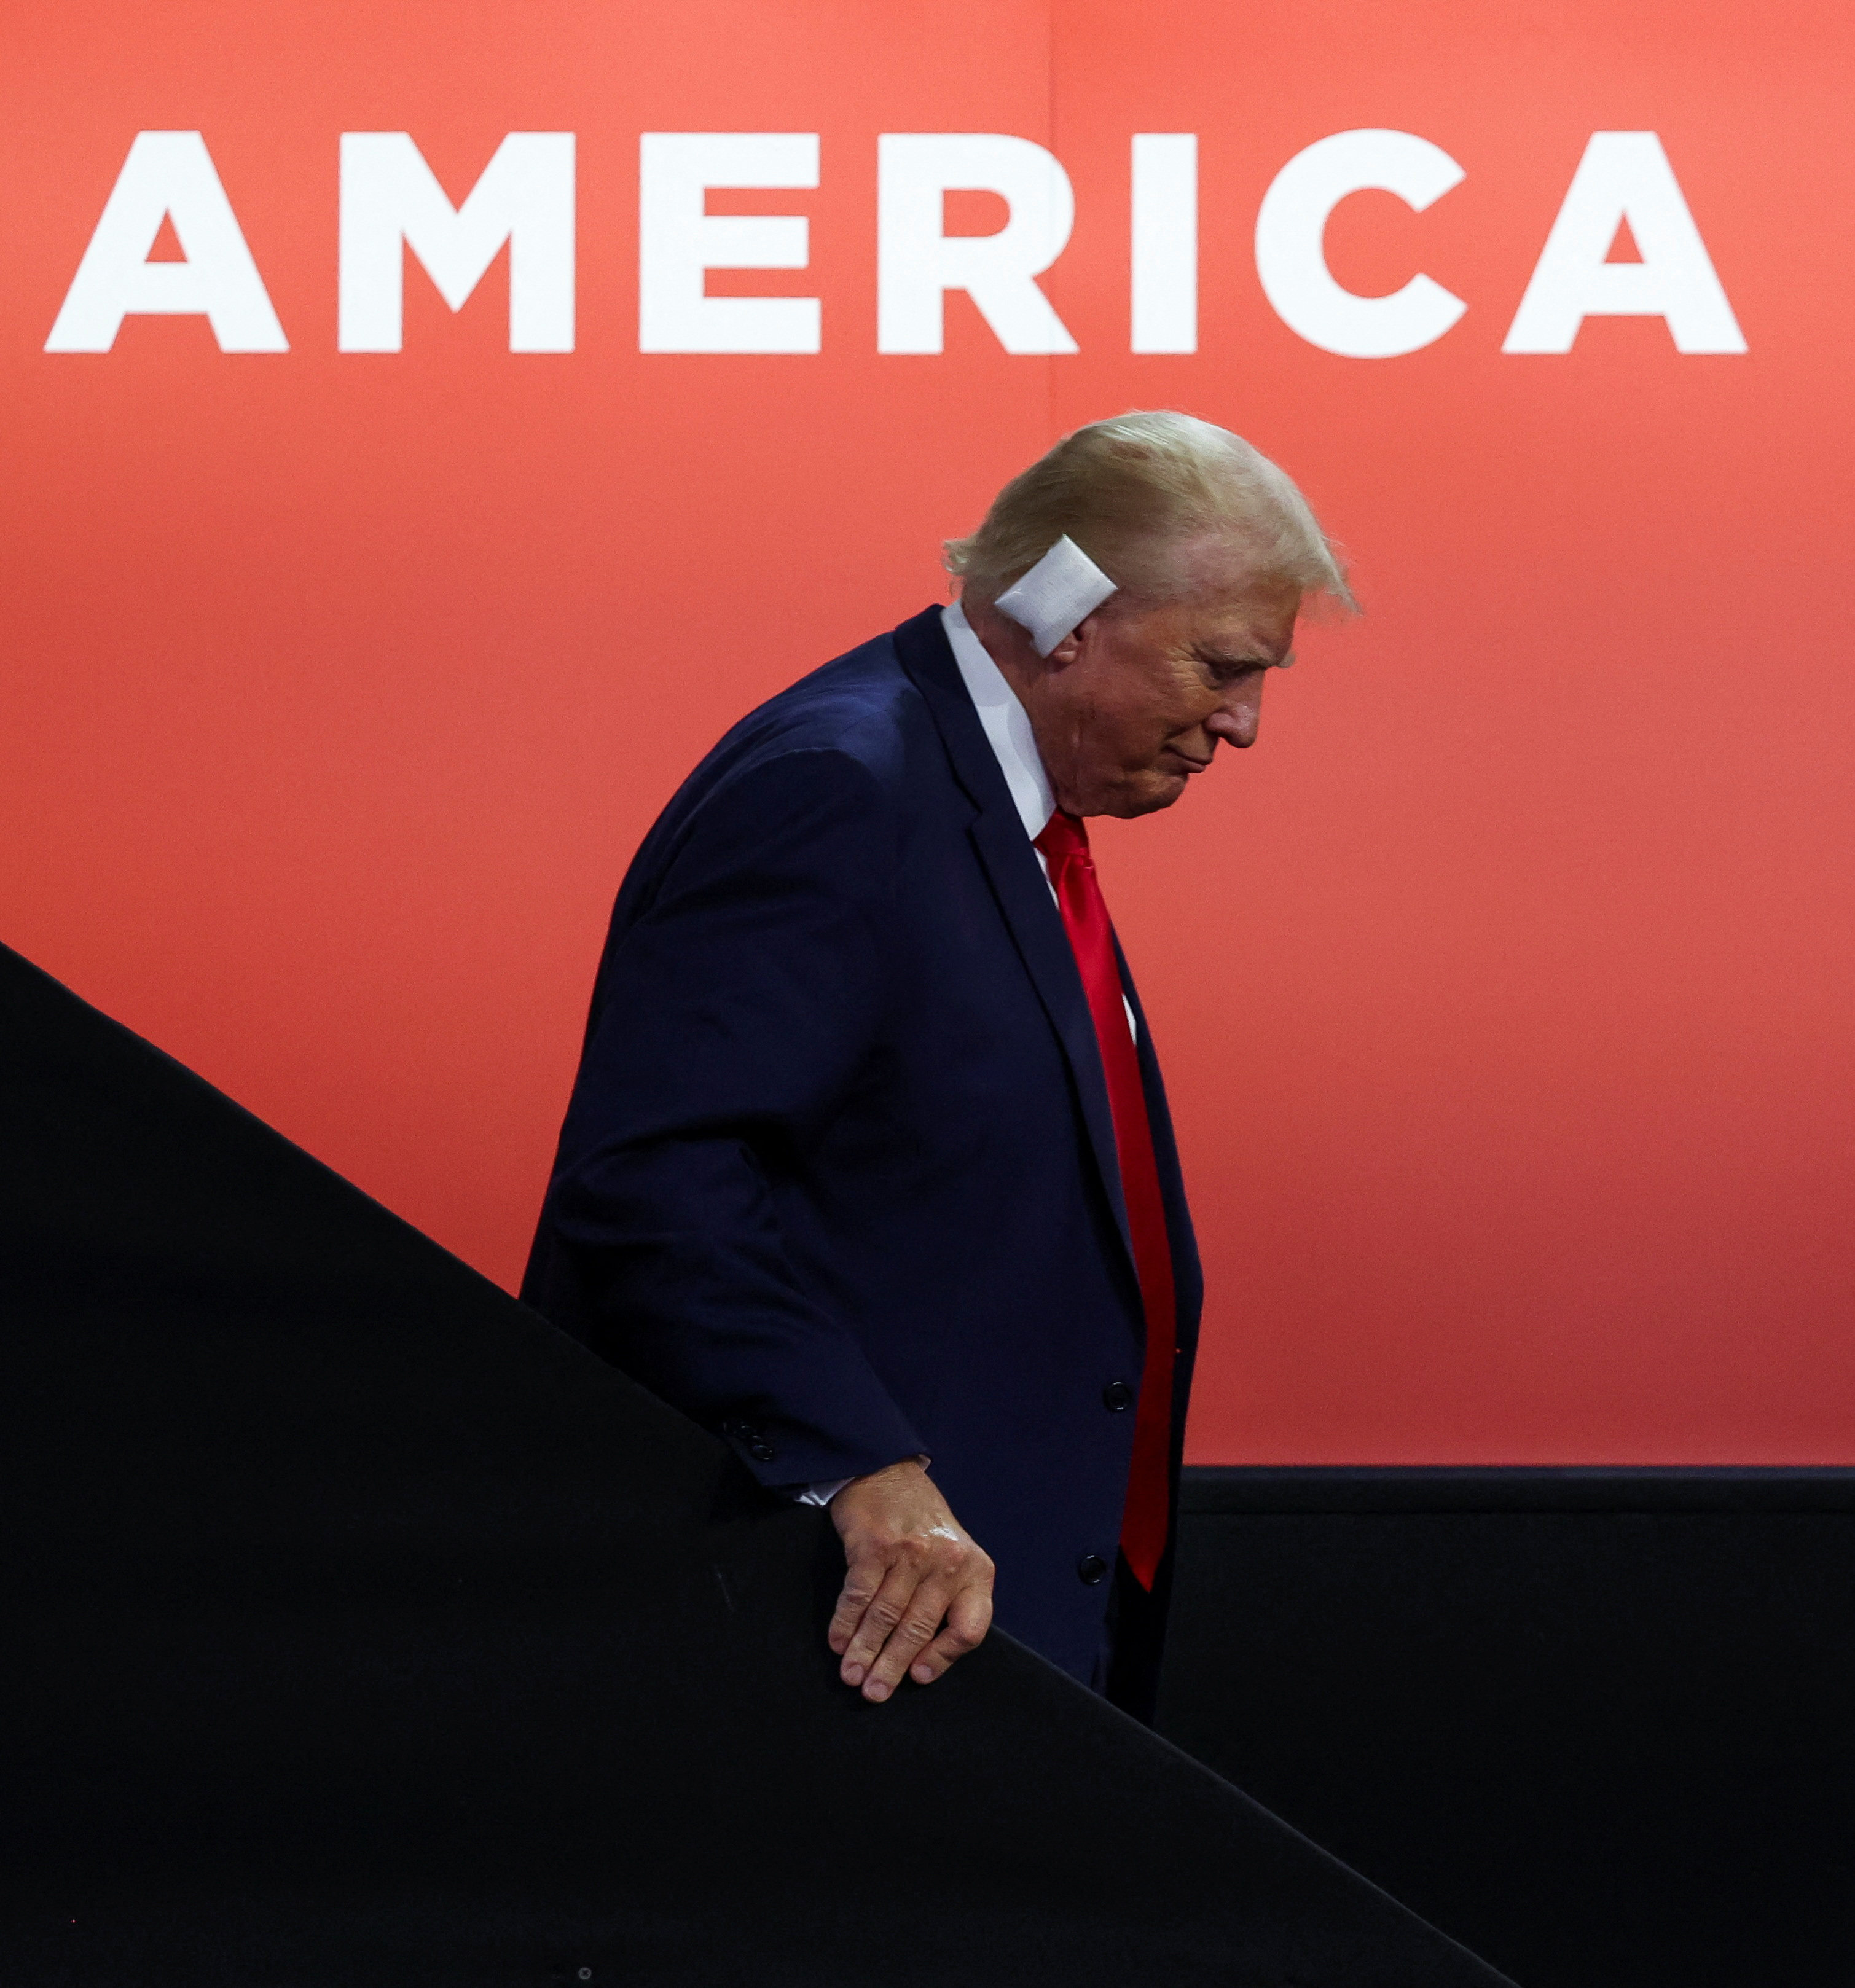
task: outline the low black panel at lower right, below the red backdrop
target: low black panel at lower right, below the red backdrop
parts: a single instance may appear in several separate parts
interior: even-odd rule
[[[1195,1471],[1161,1730],[1525,1988],[1855,1982],[1855,1471]]]

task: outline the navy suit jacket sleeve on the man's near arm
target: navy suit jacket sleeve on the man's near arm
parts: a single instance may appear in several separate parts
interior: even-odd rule
[[[893,803],[843,751],[706,795],[620,905],[563,1131],[551,1221],[589,1340],[765,1485],[925,1447],[779,1221],[881,1024],[895,851]]]

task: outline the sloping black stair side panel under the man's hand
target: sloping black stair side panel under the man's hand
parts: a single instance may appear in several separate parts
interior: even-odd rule
[[[1501,1976],[0,950],[0,1980]]]

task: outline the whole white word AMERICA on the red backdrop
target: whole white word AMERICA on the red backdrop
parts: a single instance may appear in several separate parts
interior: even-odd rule
[[[817,352],[815,296],[706,296],[712,268],[797,270],[803,215],[710,215],[710,189],[809,189],[815,131],[646,131],[638,159],[638,350]],[[1350,193],[1424,213],[1463,169],[1410,131],[1338,131],[1276,173],[1257,213],[1268,302],[1324,352],[1384,360],[1435,344],[1467,310],[1430,276],[1358,296],[1326,266],[1322,237]],[[877,139],[877,350],[940,352],[948,290],[964,290],[1006,352],[1074,352],[1038,286],[1076,219],[1070,175],[1004,133],[907,131]],[[944,233],[946,193],[994,193],[996,235]],[[171,221],[185,260],[151,262]],[[1622,225],[1640,260],[1606,254]],[[1197,350],[1197,137],[1133,137],[1131,350]],[[511,131],[453,207],[406,131],[348,131],[340,165],[342,352],[398,352],[404,250],[451,310],[509,247],[509,350],[571,352],[575,139]],[[199,131],[141,131],[103,205],[46,352],[107,352],[135,314],[203,314],[221,352],[288,352],[284,328]],[[1503,352],[1571,352],[1591,316],[1658,316],[1676,352],[1744,352],[1738,320],[1654,131],[1597,131],[1573,175]]]

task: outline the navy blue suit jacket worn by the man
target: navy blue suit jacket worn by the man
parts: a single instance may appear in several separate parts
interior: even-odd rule
[[[1145,1016],[1139,1060],[1177,1481],[1201,1278]],[[1097,1674],[1139,1288],[1082,978],[936,608],[744,718],[644,839],[523,1296],[767,1487],[930,1455],[998,1622]]]

